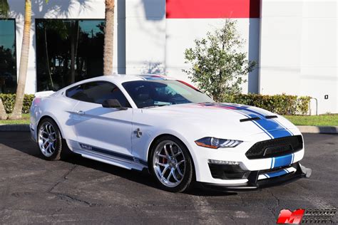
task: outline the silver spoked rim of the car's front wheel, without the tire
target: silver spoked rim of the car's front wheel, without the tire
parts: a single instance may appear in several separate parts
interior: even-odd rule
[[[185,174],[185,157],[182,150],[171,140],[160,142],[153,156],[153,167],[162,184],[166,187],[177,187]]]

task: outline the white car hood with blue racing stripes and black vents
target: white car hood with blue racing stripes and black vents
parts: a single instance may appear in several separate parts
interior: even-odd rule
[[[150,111],[151,110],[151,111]],[[265,132],[270,138],[292,135],[295,125],[275,113],[232,103],[190,103],[147,110],[167,122],[202,129],[210,135],[253,135]],[[177,124],[176,124],[177,125]],[[178,127],[180,125],[177,125]]]

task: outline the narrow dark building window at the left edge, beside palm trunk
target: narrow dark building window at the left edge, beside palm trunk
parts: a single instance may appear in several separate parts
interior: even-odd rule
[[[0,93],[16,91],[15,20],[0,19]]]

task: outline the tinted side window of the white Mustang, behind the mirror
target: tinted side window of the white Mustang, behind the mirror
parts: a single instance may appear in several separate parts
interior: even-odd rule
[[[66,91],[66,96],[88,103],[102,104],[104,100],[117,99],[121,106],[130,108],[128,100],[113,83],[91,82],[78,85]]]

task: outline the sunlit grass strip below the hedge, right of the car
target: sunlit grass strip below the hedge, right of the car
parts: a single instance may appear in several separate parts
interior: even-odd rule
[[[285,115],[295,125],[338,126],[338,114],[326,115]]]

